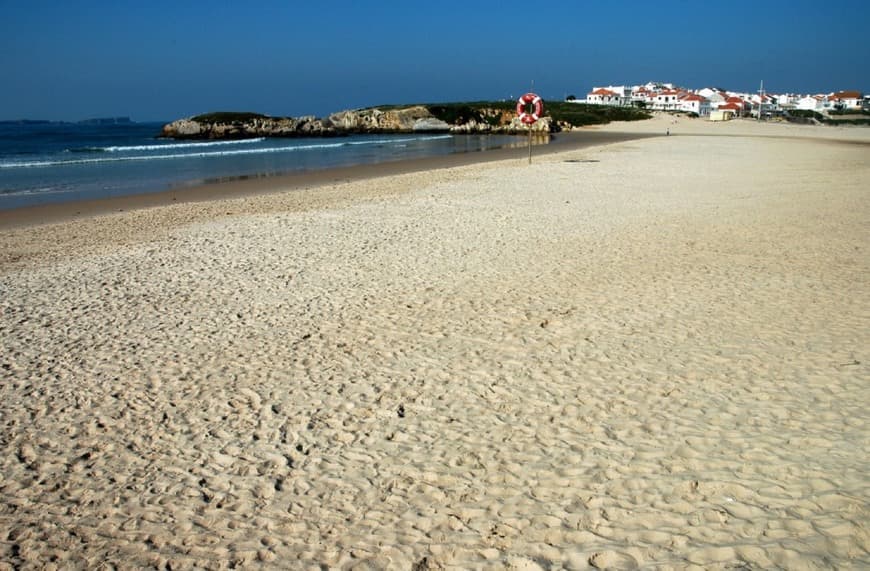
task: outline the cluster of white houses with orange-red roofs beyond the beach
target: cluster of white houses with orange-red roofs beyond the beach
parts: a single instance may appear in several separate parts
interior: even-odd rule
[[[734,117],[759,119],[788,116],[793,112],[815,112],[822,116],[870,112],[870,95],[859,91],[796,95],[728,91],[715,87],[683,89],[672,83],[649,82],[645,85],[609,85],[594,87],[586,99],[568,96],[568,101],[592,105],[640,107],[654,111],[684,112],[710,119],[727,121]]]

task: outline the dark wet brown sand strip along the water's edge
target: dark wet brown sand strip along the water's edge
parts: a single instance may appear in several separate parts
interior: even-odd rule
[[[550,142],[546,144],[534,144],[533,156],[549,155],[566,150],[607,145],[650,136],[657,135],[638,134],[631,131],[609,132],[591,129],[560,133],[551,135]],[[522,137],[519,137],[519,139],[525,141]],[[68,222],[104,214],[169,206],[172,204],[210,202],[310,189],[337,182],[368,180],[476,163],[514,158],[520,160],[527,157],[527,153],[527,147],[519,145],[485,151],[401,159],[376,164],[317,169],[298,173],[239,176],[219,181],[194,181],[169,190],[0,210],[0,230]]]

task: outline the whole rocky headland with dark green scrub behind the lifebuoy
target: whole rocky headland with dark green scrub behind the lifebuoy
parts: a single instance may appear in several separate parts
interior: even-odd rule
[[[544,116],[532,130],[556,133],[611,121],[648,119],[642,109],[545,101]],[[382,105],[341,111],[325,118],[271,117],[250,112],[216,112],[164,125],[172,139],[247,139],[254,137],[337,137],[358,133],[526,133],[513,101]]]

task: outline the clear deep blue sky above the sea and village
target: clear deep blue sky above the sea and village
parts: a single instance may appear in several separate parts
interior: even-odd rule
[[[870,91],[870,2],[0,0],[0,119],[582,97],[669,81]]]

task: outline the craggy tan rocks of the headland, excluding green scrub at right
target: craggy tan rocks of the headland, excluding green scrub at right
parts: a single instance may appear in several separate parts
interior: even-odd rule
[[[246,139],[255,137],[334,137],[354,133],[524,133],[516,113],[504,109],[476,109],[474,117],[461,117],[451,124],[427,107],[358,109],[333,113],[327,118],[268,117],[255,114],[215,113],[173,121],[162,136],[172,139]],[[557,126],[542,117],[532,126],[536,132],[551,132]]]

